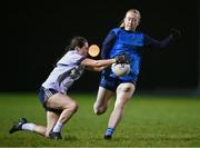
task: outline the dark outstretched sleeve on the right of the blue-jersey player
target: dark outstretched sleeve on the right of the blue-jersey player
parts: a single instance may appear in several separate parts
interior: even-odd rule
[[[158,41],[158,40],[147,36],[147,34],[143,34],[143,40],[144,40],[144,46],[147,48],[163,49],[172,42],[173,38],[172,38],[172,36],[168,36],[163,40]]]

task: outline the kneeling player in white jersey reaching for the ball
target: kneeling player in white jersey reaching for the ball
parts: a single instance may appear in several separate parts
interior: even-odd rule
[[[106,60],[93,60],[87,56],[87,39],[74,37],[69,46],[69,51],[57,62],[40,88],[39,98],[47,111],[47,126],[28,122],[26,118],[21,118],[9,132],[29,130],[44,137],[61,139],[63,125],[78,109],[77,102],[67,95],[70,86],[81,77],[84,69],[101,71],[113,62],[123,62],[124,60],[122,56]]]

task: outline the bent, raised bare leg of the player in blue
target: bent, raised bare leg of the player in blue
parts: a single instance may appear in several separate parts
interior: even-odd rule
[[[93,111],[96,115],[101,115],[107,110],[108,102],[113,95],[113,91],[99,87],[97,100],[93,105]]]

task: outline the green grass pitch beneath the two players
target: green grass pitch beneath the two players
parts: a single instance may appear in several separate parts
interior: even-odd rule
[[[200,147],[200,98],[136,96],[128,102],[113,139],[102,137],[113,101],[102,116],[92,110],[94,95],[71,95],[78,112],[64,126],[62,140],[29,131],[9,135],[20,117],[46,125],[37,93],[0,95],[0,147]]]

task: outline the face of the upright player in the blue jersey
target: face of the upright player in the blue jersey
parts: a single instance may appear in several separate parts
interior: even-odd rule
[[[134,31],[139,24],[139,14],[136,12],[127,12],[124,18],[124,30]]]

